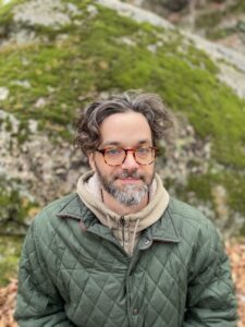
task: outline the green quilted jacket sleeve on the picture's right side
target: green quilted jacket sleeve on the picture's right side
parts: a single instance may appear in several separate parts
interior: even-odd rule
[[[230,263],[212,223],[198,235],[197,244],[182,327],[236,327]]]

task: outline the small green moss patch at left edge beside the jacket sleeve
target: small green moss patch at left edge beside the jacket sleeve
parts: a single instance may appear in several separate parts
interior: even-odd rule
[[[23,238],[0,238],[0,287],[8,284],[11,278],[17,277],[17,263],[21,255]]]

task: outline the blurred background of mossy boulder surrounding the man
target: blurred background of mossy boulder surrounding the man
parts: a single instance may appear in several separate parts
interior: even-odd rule
[[[77,113],[132,88],[158,93],[172,116],[157,162],[166,187],[213,220],[245,267],[245,1],[0,0],[5,293],[30,221],[88,169],[73,146]]]

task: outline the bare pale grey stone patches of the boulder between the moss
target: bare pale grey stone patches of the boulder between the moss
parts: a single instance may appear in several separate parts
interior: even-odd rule
[[[112,8],[121,15],[132,17],[137,22],[148,22],[166,29],[177,31],[171,23],[162,17],[125,2],[97,0],[95,3]],[[87,7],[87,12],[89,16],[96,16],[98,14],[96,5],[91,4]],[[28,24],[32,26],[41,25],[50,28],[53,27],[53,29],[57,31],[60,26],[70,24],[73,17],[78,13],[79,11],[76,5],[73,3],[65,4],[65,2],[59,0],[37,0],[20,4],[14,10],[15,28],[11,29],[11,33],[7,35],[5,43],[2,43],[2,47],[8,47],[11,41],[15,43],[15,45],[40,43],[35,32],[32,31],[32,28],[26,28]],[[75,25],[78,26],[77,28],[83,26],[83,22],[78,19],[74,22]],[[21,26],[21,29],[19,31],[16,26]],[[184,39],[184,43],[182,45],[180,44],[180,50],[184,51],[185,45],[186,49],[189,45],[194,45],[196,48],[204,50],[217,62],[220,69],[218,76],[220,81],[225,82],[240,97],[245,97],[245,58],[241,53],[222,45],[211,44],[187,32],[177,32],[177,35],[181,35]],[[68,38],[69,34],[61,33],[56,36],[56,41],[62,44],[65,43]],[[147,49],[150,53],[156,55],[158,48],[162,47],[166,40],[168,41],[168,38],[171,38],[168,33],[162,34],[162,38],[156,43],[150,43]],[[119,46],[127,46],[132,49],[132,52],[134,51],[134,47],[137,46],[137,40],[132,39],[131,35],[119,37],[115,43]],[[24,69],[29,69],[29,60],[24,57],[22,61]],[[98,62],[98,69],[108,71],[110,63],[101,59]],[[10,83],[10,86],[25,88],[26,92],[28,92],[28,89],[33,87],[32,84],[33,83],[25,78],[15,78]],[[1,101],[4,101],[11,96],[10,89],[4,85],[0,87],[0,108]],[[34,99],[34,110],[42,112],[41,110],[49,104],[49,96],[57,96],[57,87],[47,85],[47,89],[48,95],[37,96]],[[108,97],[110,93],[111,90],[108,89],[100,92],[100,94],[95,92],[96,96],[101,98]],[[94,95],[93,89],[91,95]],[[84,100],[84,95],[79,97],[79,100]],[[60,105],[62,111],[65,111],[66,108],[68,104],[62,102]],[[179,186],[184,190],[189,177],[203,175],[209,171],[212,140],[210,136],[200,138],[186,117],[173,112],[172,116],[174,122],[173,130],[167,138],[160,143],[161,150],[164,155],[159,158],[158,171],[163,179],[169,178],[173,181],[174,187],[170,185],[170,192],[174,195]],[[47,136],[45,130],[39,130],[38,121],[35,119],[27,121],[27,138],[24,142],[20,142],[19,136],[22,133],[22,122],[19,121],[14,113],[7,113],[0,110],[0,173],[1,177],[4,177],[7,185],[9,181],[9,185],[7,186],[8,192],[10,192],[12,187],[20,193],[23,202],[27,199],[30,202],[35,201],[39,207],[42,207],[51,199],[75,191],[78,177],[85,172],[88,167],[86,166],[86,158],[84,158],[78,150],[75,150],[71,143],[60,137],[58,137],[56,142],[52,142]],[[50,122],[50,124],[52,124],[52,122]],[[59,126],[53,126],[53,129],[56,128],[59,129]],[[69,128],[70,126],[68,126],[68,129]],[[224,167],[212,162],[211,172],[220,173],[221,171],[224,171]],[[16,181],[19,181],[19,183]],[[223,185],[216,185],[211,191],[213,203],[211,203],[211,201],[205,202],[197,199],[194,192],[187,192],[186,198],[209,218],[215,219],[218,216],[220,218],[218,225],[220,225],[221,228],[225,227],[231,215],[236,226],[242,227],[244,217],[238,213],[231,213],[229,208],[228,190],[225,190]],[[27,220],[32,218],[36,211],[37,209],[35,207],[30,209]],[[235,230],[232,230],[232,232],[233,231],[235,232]]]

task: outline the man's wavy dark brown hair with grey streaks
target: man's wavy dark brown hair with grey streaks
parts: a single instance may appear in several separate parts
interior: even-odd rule
[[[85,155],[95,152],[101,142],[99,128],[103,120],[111,114],[128,111],[142,113],[146,118],[151,130],[154,145],[172,125],[167,108],[157,94],[127,90],[106,100],[90,102],[81,111],[76,122],[75,144]]]

